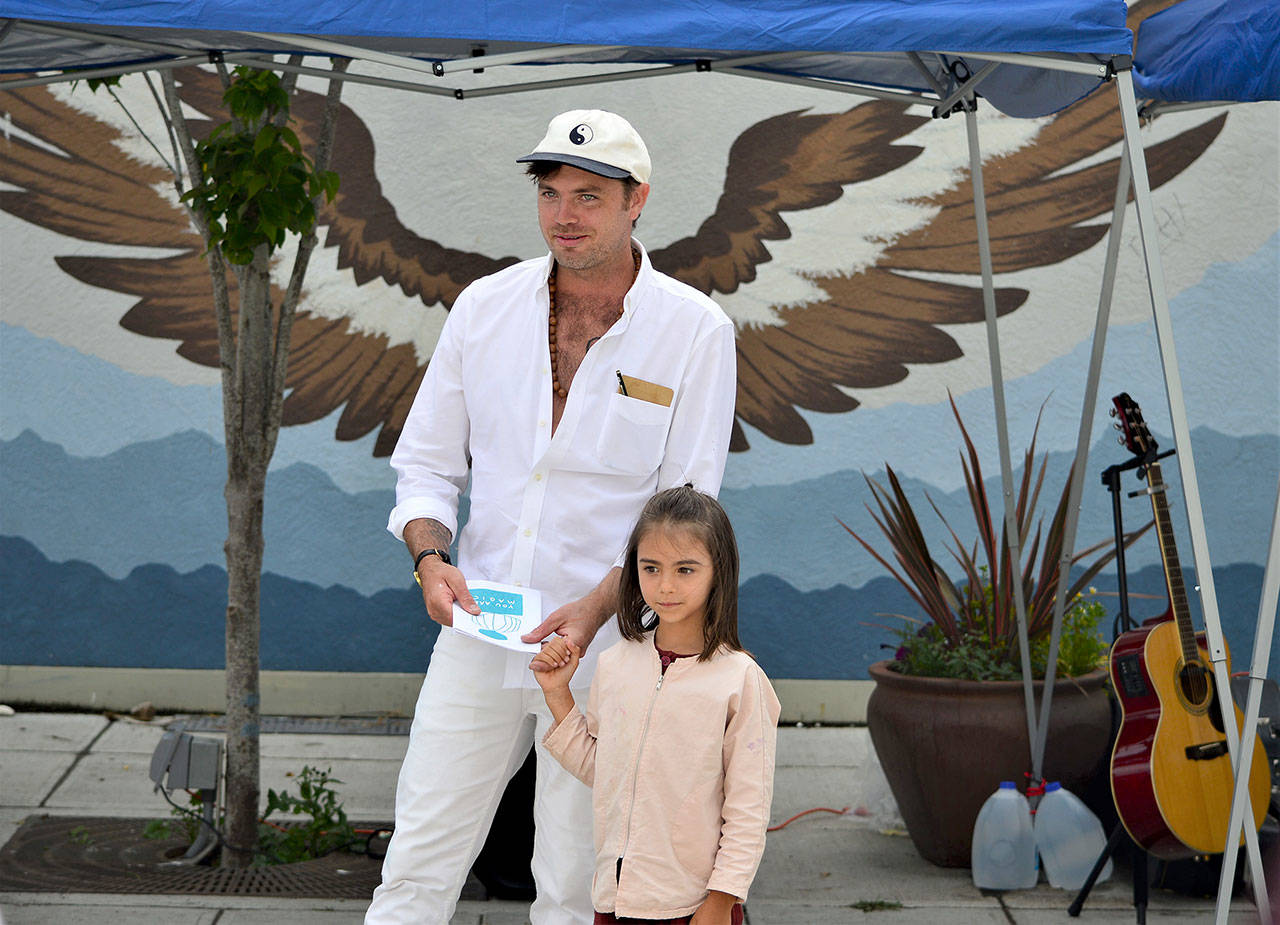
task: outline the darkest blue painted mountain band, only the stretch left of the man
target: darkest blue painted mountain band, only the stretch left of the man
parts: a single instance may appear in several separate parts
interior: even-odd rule
[[[425,670],[438,627],[416,587],[365,596],[348,587],[262,576],[265,669]],[[227,572],[141,565],[114,580],[54,563],[0,537],[0,663],[109,668],[223,668]]]

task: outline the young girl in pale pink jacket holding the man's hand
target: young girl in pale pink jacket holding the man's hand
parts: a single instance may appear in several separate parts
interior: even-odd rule
[[[737,638],[737,545],[691,486],[654,495],[618,590],[622,641],[584,716],[577,646],[532,663],[556,725],[543,745],[593,788],[596,925],[740,925],[764,851],[778,699]]]

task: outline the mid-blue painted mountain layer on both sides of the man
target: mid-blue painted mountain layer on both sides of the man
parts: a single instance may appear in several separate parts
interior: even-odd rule
[[[1156,435],[1161,445],[1167,436]],[[1280,436],[1233,438],[1207,429],[1193,435],[1215,565],[1261,562],[1270,535],[1266,504],[1239,496],[1239,475],[1256,473],[1260,485],[1275,485]],[[1066,477],[1066,453],[1051,453],[1041,507],[1047,513]],[[1091,450],[1078,545],[1111,536],[1111,499],[1097,473],[1128,453],[1110,440]],[[987,487],[1000,498],[998,466],[989,466]],[[96,458],[68,455],[31,431],[0,441],[0,534],[23,536],[54,560],[91,562],[114,578],[148,563],[179,572],[223,562],[225,462],[221,447],[206,434],[186,431],[125,447]],[[1231,473],[1233,477],[1224,477]],[[882,472],[869,473],[883,481]],[[943,491],[902,476],[908,494],[946,558],[946,532],[924,500],[925,493],[961,532],[972,522],[963,489]],[[1171,509],[1181,559],[1192,549],[1183,516],[1175,461],[1166,461]],[[1125,476],[1125,490],[1138,487]],[[1271,489],[1267,487],[1266,491]],[[836,518],[879,544],[864,503],[863,476],[841,471],[790,485],[724,489],[721,500],[741,542],[742,576],[783,576],[795,589],[817,591],[836,585],[863,586],[883,574],[879,565],[841,528]],[[463,499],[465,502],[465,499]],[[361,594],[403,587],[408,563],[403,548],[385,531],[392,490],[347,493],[321,470],[294,463],[273,470],[266,487],[265,571],[320,585],[338,583]],[[1125,525],[1151,517],[1146,499],[1124,502]],[[465,518],[466,505],[463,503]],[[1130,568],[1158,562],[1153,539],[1130,551]]]

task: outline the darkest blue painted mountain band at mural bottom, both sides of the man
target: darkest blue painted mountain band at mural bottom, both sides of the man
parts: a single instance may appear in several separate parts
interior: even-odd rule
[[[1236,669],[1252,652],[1262,569],[1215,569],[1224,631]],[[1098,587],[1115,586],[1100,576]],[[1130,590],[1164,594],[1149,567]],[[110,668],[221,668],[227,574],[205,565],[186,574],[143,565],[113,580],[83,562],[54,563],[20,537],[0,537],[0,663]],[[1194,605],[1194,604],[1193,604]],[[1165,608],[1134,601],[1137,619]],[[884,614],[914,613],[891,578],[797,591],[763,574],[740,589],[744,645],[774,678],[865,678],[890,655],[896,623]],[[1197,626],[1203,621],[1194,617]],[[1110,627],[1106,628],[1110,631]],[[426,619],[417,589],[365,596],[348,587],[262,577],[261,652],[265,669],[422,672],[438,627]],[[1105,633],[1110,637],[1110,632]]]

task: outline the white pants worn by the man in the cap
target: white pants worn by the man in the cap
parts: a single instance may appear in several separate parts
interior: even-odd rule
[[[507,782],[538,748],[531,925],[590,925],[591,791],[541,747],[541,690],[503,690],[506,650],[448,628],[431,652],[366,925],[448,925]]]

